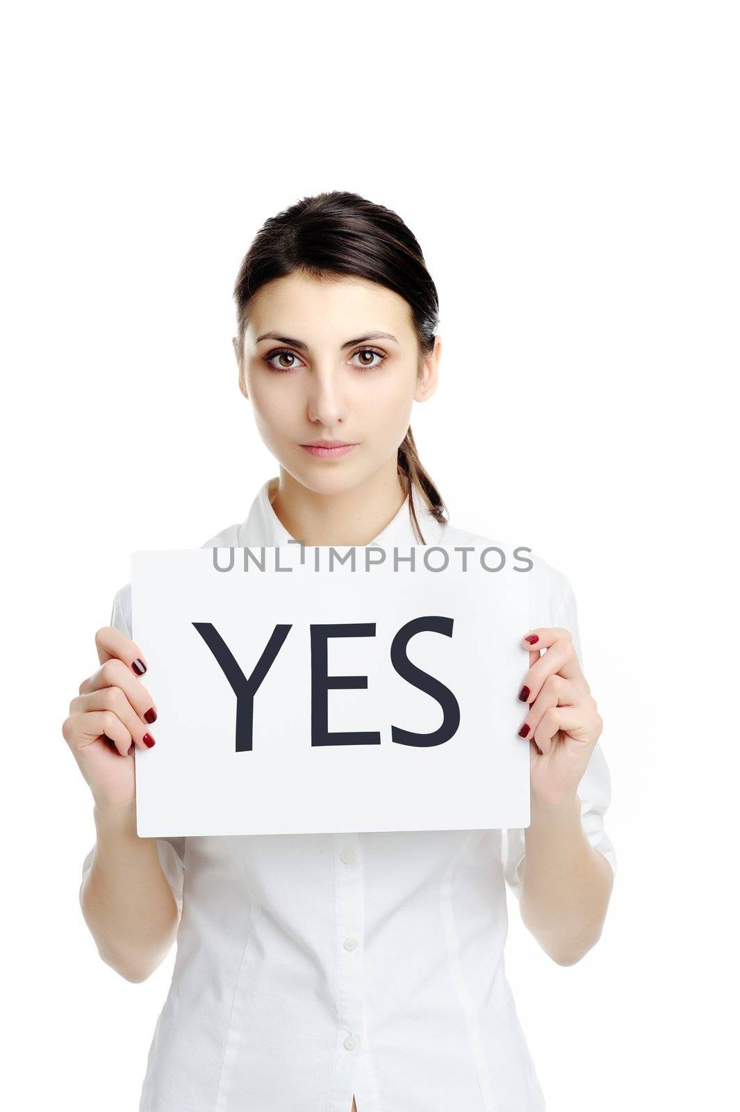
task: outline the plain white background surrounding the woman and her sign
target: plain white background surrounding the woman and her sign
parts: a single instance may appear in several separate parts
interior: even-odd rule
[[[576,966],[511,907],[549,1112],[731,1101],[738,38],[711,0],[6,14],[14,1109],[137,1106],[173,953],[140,985],[98,959],[60,727],[131,550],[202,544],[277,474],[231,289],[266,218],[334,188],[398,211],[438,284],[441,381],[412,428],[452,520],[531,544],[579,602],[619,873]]]

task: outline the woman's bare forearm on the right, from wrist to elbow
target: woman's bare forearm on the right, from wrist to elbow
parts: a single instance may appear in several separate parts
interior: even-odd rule
[[[532,801],[524,844],[522,922],[554,962],[573,965],[601,935],[612,867],[589,845],[577,795],[556,806]]]

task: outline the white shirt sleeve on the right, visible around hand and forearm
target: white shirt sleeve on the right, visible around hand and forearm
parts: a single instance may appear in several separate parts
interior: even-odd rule
[[[547,565],[544,565],[547,568]],[[554,590],[550,595],[549,616],[538,610],[534,604],[530,628],[551,625],[569,629],[573,639],[576,653],[583,667],[580,631],[578,628],[578,610],[576,597],[568,579],[552,568],[547,568]],[[537,597],[534,595],[534,597]],[[581,823],[589,844],[604,855],[612,872],[617,872],[617,854],[604,827],[604,815],[611,802],[611,780],[601,739],[597,742],[586,772],[578,786],[581,801]],[[524,831],[510,828],[503,832],[502,857],[503,875],[507,884],[517,898],[521,894],[522,871],[524,867]]]

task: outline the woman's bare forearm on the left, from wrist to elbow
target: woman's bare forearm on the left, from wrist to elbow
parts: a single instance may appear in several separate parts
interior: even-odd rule
[[[157,838],[138,836],[134,801],[96,804],[93,817],[96,851],[80,886],[82,915],[106,964],[127,981],[146,981],[167,956],[179,923]]]

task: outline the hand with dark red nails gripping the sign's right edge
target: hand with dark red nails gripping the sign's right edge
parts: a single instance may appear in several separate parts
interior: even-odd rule
[[[519,698],[530,706],[519,736],[530,739],[532,802],[569,805],[603,723],[568,629],[530,629],[521,643],[530,667]]]

